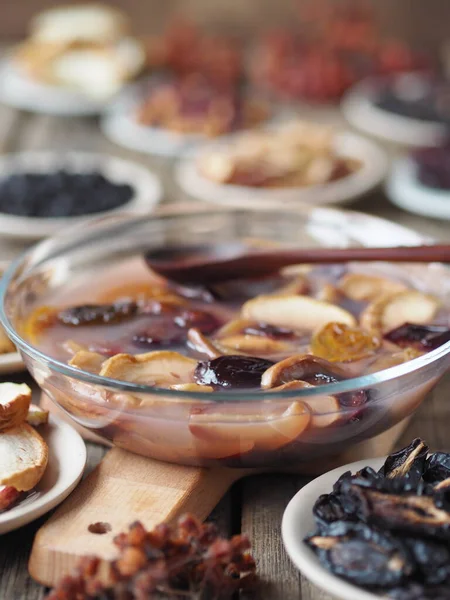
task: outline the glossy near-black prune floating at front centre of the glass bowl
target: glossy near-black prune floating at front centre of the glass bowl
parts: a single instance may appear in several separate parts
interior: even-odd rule
[[[273,364],[254,356],[219,356],[199,362],[194,378],[197,383],[215,388],[258,388],[264,371]]]

